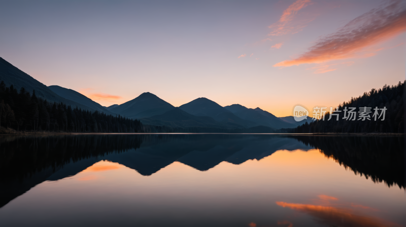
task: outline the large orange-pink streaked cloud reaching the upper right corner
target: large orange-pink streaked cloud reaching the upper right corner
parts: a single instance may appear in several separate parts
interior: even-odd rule
[[[274,67],[370,57],[374,53],[362,55],[364,48],[404,31],[406,31],[404,2],[400,0],[388,1],[381,7],[350,21],[339,31],[321,38],[308,52],[295,59],[279,62]]]

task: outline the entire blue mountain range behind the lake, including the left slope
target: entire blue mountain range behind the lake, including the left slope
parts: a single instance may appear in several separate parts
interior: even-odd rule
[[[292,116],[279,118],[260,108],[250,109],[239,104],[222,107],[207,98],[198,98],[180,107],[160,99],[154,94],[143,93],[121,105],[101,106],[75,90],[58,85],[46,86],[0,58],[0,80],[15,88],[36,90],[38,97],[50,102],[63,102],[72,107],[106,114],[119,114],[139,119],[143,124],[168,127],[252,128],[269,131],[294,128],[305,121],[296,122]]]

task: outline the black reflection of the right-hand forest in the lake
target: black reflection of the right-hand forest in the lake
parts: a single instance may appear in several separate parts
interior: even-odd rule
[[[403,137],[312,137],[297,136],[297,140],[319,149],[326,157],[364,175],[374,182],[404,188]]]

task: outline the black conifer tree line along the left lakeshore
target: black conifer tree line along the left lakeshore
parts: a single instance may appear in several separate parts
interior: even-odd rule
[[[72,108],[0,82],[0,126],[15,130],[64,132],[143,132],[143,124],[120,115]]]

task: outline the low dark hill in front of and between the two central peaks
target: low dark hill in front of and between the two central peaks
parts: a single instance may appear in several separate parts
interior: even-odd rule
[[[194,116],[178,107],[160,115],[141,118],[143,124],[171,126],[171,127],[213,127],[213,128],[238,128],[240,125],[226,124],[208,116]]]

